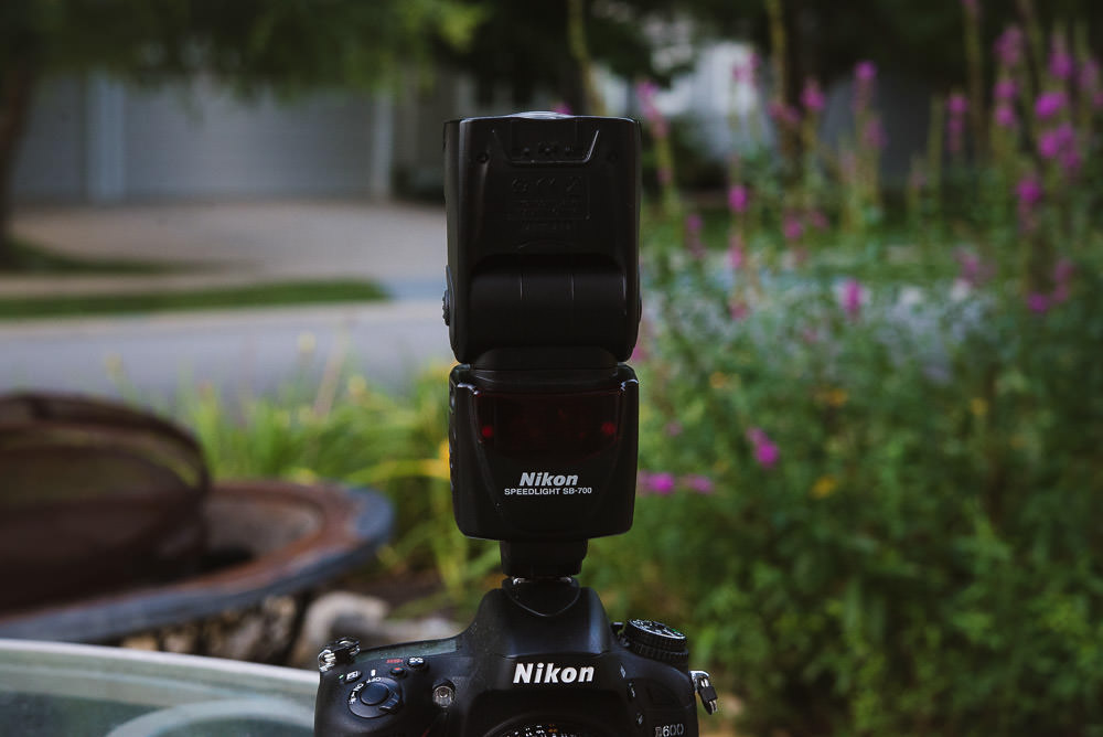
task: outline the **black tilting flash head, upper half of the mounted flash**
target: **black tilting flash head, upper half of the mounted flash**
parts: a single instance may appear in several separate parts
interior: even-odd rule
[[[445,125],[446,320],[461,363],[625,361],[640,323],[640,126],[525,113]]]

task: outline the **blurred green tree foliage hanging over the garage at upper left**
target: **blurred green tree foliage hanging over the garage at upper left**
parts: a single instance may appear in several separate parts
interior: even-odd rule
[[[11,174],[35,88],[103,71],[139,84],[206,74],[243,95],[372,87],[400,64],[462,47],[482,9],[459,0],[3,0],[0,264]]]

